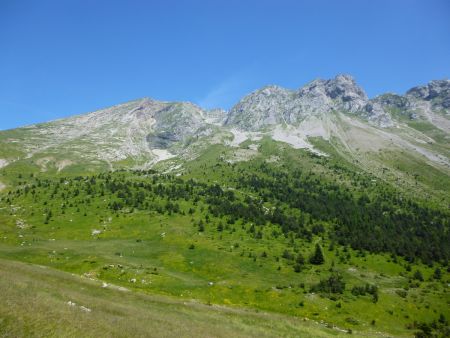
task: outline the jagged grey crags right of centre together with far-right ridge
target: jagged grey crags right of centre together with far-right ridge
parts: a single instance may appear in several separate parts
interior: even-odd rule
[[[346,112],[387,128],[395,125],[392,108],[409,114],[411,119],[421,117],[431,123],[435,119],[430,115],[443,112],[448,121],[449,90],[449,80],[432,81],[410,89],[405,96],[385,94],[370,100],[351,76],[338,75],[331,80],[314,80],[296,91],[278,86],[259,89],[231,109],[226,124],[258,130],[268,125],[299,124],[314,115]]]

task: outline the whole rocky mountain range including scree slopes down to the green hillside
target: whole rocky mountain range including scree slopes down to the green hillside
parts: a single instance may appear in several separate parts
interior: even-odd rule
[[[210,145],[247,141],[257,149],[264,137],[325,156],[334,149],[373,172],[399,170],[392,158],[401,154],[450,175],[450,81],[369,99],[351,76],[338,75],[298,90],[261,88],[228,112],[144,98],[2,131],[0,167],[85,172],[149,168],[167,159],[182,166]]]

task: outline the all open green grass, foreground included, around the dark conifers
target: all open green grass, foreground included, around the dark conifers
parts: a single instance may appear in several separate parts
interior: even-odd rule
[[[186,164],[182,178],[231,188],[236,175],[255,172],[277,155],[281,160],[273,165],[280,170],[301,167],[322,182],[339,181],[355,194],[372,189],[366,184],[372,184],[373,177],[356,173],[352,164],[334,157],[317,157],[265,139],[260,155],[252,161],[227,164],[233,151],[220,145],[208,148]],[[33,180],[17,177],[24,170],[21,167],[7,169],[6,177],[13,184],[22,182],[25,187]],[[38,177],[52,175],[40,173]],[[147,179],[127,172],[114,175],[136,183]],[[409,264],[402,258],[360,253],[338,244],[330,251],[326,233],[311,241],[285,237],[273,224],[265,225],[262,238],[256,239],[248,232],[249,222],[242,219],[219,232],[219,220],[213,218],[199,232],[197,223],[208,210],[202,199],[197,204],[178,201],[184,215],[137,209],[114,212],[108,207],[114,197],[108,194],[92,198],[82,190],[78,197],[65,201],[59,194],[52,198],[51,190],[37,189],[36,200],[31,193],[21,195],[12,205],[4,203],[8,191],[2,195],[0,269],[7,278],[0,279],[0,286],[8,305],[1,307],[0,330],[5,335],[79,336],[80,330],[86,330],[86,336],[143,336],[148,332],[186,336],[192,332],[195,336],[320,337],[341,332],[326,329],[328,325],[351,329],[356,336],[411,336],[414,330],[407,326],[414,321],[431,322],[441,313],[450,317],[450,275],[438,263],[428,266],[416,261],[407,271]],[[253,195],[242,189],[235,192],[242,198]],[[64,202],[74,205],[62,213]],[[43,214],[48,208],[53,217],[45,224]],[[188,214],[189,208],[195,208],[193,215]],[[328,229],[329,224],[324,224]],[[93,235],[93,230],[102,232]],[[296,273],[293,263],[281,257],[288,248],[308,258],[317,242],[324,249],[324,265],[306,264]],[[438,266],[443,272],[440,281],[431,278]],[[346,291],[342,295],[312,293],[311,288],[330,276],[331,269],[343,276]],[[418,284],[412,281],[417,269],[425,279]],[[130,291],[103,289],[102,282]],[[370,296],[351,293],[353,286],[367,283],[378,286],[377,303]],[[399,295],[400,290],[406,291],[405,297]],[[32,311],[24,305],[27,299]],[[71,308],[69,300],[92,312]],[[40,315],[46,311],[53,320]],[[20,318],[20,325],[14,325]],[[55,325],[56,321],[64,325]]]

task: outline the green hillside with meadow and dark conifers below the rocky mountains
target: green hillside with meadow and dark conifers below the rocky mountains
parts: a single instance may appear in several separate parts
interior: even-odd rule
[[[331,148],[317,156],[264,139],[250,160],[235,161],[251,151],[248,143],[213,145],[182,169],[177,159],[152,170],[91,174],[3,168],[9,187],[0,201],[0,257],[10,272],[1,287],[12,305],[2,307],[2,331],[448,334],[444,191],[424,198]],[[449,186],[448,176],[436,177]],[[21,312],[27,294],[61,280],[34,298],[29,317]],[[11,291],[16,284],[26,293]],[[77,312],[69,300],[92,312]],[[48,326],[39,314],[49,307],[55,318],[80,324]],[[23,318],[22,326],[13,327],[13,318]]]

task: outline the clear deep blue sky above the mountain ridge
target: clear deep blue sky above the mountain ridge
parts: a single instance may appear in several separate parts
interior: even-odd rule
[[[448,78],[450,1],[0,0],[0,129],[338,73],[370,97]]]

